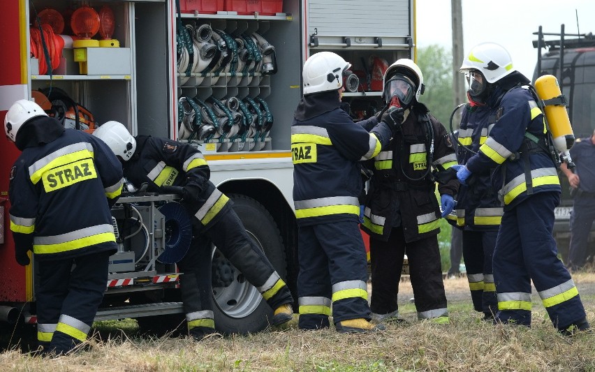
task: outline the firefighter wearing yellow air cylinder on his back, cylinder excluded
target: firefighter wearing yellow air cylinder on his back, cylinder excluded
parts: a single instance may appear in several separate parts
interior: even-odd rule
[[[538,98],[527,89],[529,80],[514,68],[510,54],[496,43],[471,48],[461,70],[469,71],[473,94],[494,115],[490,136],[457,167],[457,178],[464,184],[496,167],[492,186],[504,202],[504,215],[493,259],[495,320],[531,325],[532,281],[561,334],[588,329],[578,290],[552,237],[561,188]]]

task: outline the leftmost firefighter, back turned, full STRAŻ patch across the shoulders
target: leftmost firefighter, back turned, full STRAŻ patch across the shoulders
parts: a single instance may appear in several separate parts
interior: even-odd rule
[[[110,207],[122,165],[103,142],[64,129],[32,101],[16,101],[4,130],[22,154],[10,170],[10,230],[19,265],[39,273],[37,338],[63,355],[87,339],[116,252]]]

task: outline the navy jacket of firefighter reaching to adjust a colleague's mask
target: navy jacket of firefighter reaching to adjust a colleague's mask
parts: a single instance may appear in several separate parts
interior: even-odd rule
[[[376,117],[354,123],[339,103],[337,91],[310,94],[295,112],[291,151],[298,225],[359,221],[358,162],[379,154],[390,140],[387,124],[376,124]],[[374,124],[368,133],[364,126]]]

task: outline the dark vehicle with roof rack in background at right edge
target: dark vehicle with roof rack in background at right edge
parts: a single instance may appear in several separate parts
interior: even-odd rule
[[[538,50],[538,59],[533,81],[546,74],[557,77],[562,94],[568,101],[568,117],[575,138],[591,137],[595,128],[595,36],[592,33],[565,34],[564,24],[559,33],[544,33],[539,27],[536,34],[538,40],[534,40],[533,46]],[[542,48],[547,48],[543,54]],[[559,175],[562,199],[560,207],[556,208],[554,236],[562,258],[567,262],[573,199],[568,179],[561,171]],[[594,239],[595,225],[589,237],[591,248],[595,248]]]

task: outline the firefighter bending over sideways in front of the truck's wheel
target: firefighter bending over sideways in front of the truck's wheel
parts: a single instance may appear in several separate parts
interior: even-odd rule
[[[108,121],[93,133],[105,141],[122,161],[124,177],[132,184],[147,184],[147,191],[168,193],[181,186],[182,205],[194,216],[193,243],[179,267],[180,290],[189,334],[201,339],[215,332],[209,293],[211,277],[201,269],[200,250],[210,241],[244,274],[274,309],[270,325],[291,320],[293,298],[265,254],[248,236],[233,211],[231,200],[209,180],[210,169],[198,149],[173,140],[138,135],[133,137],[117,121]],[[208,238],[208,239],[205,239]]]

